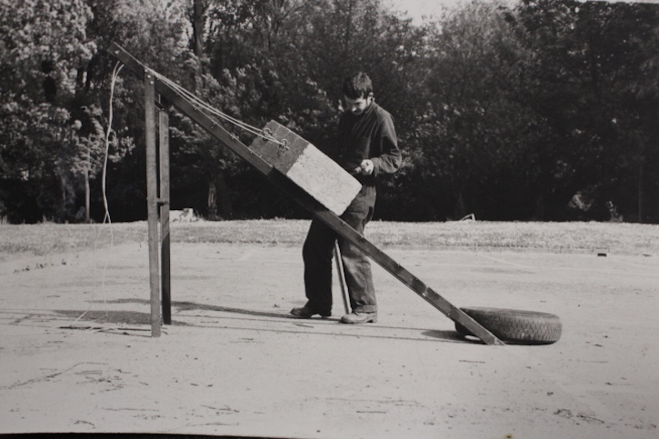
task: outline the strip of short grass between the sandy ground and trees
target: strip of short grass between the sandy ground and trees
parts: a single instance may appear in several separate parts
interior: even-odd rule
[[[309,221],[250,220],[173,223],[174,243],[300,245]],[[127,242],[147,242],[145,222],[121,224],[2,224],[0,261]],[[366,237],[376,245],[483,250],[659,254],[659,224],[392,223],[375,221]]]

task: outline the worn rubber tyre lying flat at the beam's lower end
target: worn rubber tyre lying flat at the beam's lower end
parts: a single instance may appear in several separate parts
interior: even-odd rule
[[[460,308],[505,343],[552,344],[561,338],[563,325],[558,315],[503,308]],[[474,335],[455,322],[461,335]]]

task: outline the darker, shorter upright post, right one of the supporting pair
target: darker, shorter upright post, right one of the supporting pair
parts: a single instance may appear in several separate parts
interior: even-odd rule
[[[160,279],[163,288],[163,323],[172,324],[172,279],[169,239],[169,115],[159,112],[160,134]]]

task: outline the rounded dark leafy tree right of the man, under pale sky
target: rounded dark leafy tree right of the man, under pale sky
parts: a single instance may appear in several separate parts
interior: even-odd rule
[[[417,79],[427,100],[416,110],[410,138],[423,182],[415,189],[435,200],[436,214],[429,214],[440,216],[432,219],[522,214],[519,206],[528,205],[529,195],[516,166],[527,154],[536,121],[515,102],[521,54],[514,35],[496,5],[477,1],[429,32]],[[494,207],[494,200],[504,206]]]

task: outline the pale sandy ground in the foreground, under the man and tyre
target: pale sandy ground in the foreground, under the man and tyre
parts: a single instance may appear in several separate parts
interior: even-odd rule
[[[148,252],[0,264],[0,433],[291,438],[659,437],[656,257],[384,249],[459,306],[558,314],[487,346],[379,267],[377,324],[298,320],[298,247],[175,244],[151,337]]]

